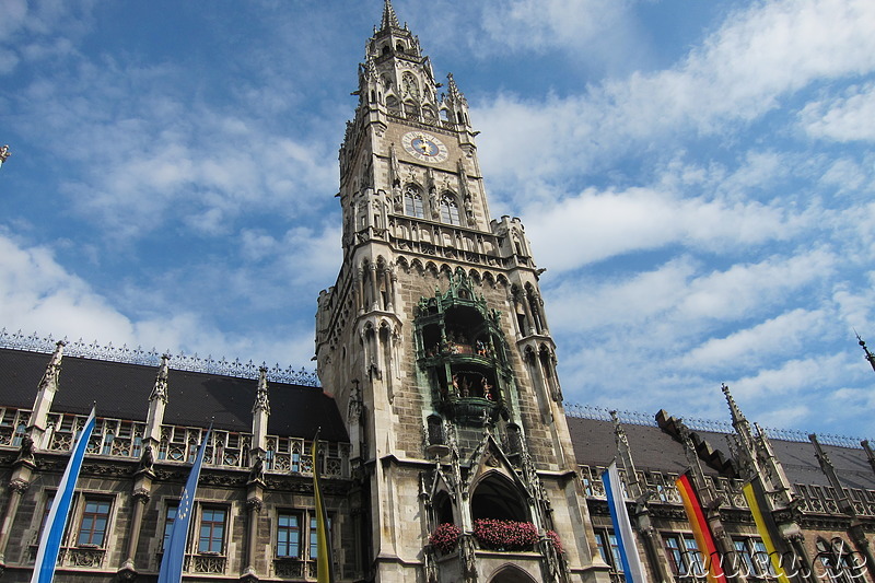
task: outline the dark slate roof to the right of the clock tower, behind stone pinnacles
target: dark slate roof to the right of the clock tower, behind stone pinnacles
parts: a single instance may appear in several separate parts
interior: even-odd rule
[[[588,466],[610,464],[617,454],[612,422],[569,417],[568,424],[579,464]],[[623,430],[629,439],[632,459],[638,469],[678,474],[687,469],[684,447],[667,432],[653,425],[631,423],[623,423]],[[696,433],[728,457],[726,434],[710,431]],[[778,439],[770,439],[770,442],[791,483],[829,486],[829,480],[815,457],[814,445],[808,442]],[[870,466],[866,453],[862,448],[821,446],[845,488],[875,490],[875,470]],[[718,474],[704,463],[702,469],[705,474]]]

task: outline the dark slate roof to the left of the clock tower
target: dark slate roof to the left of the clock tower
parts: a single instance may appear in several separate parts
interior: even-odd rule
[[[49,354],[0,349],[0,406],[30,409]],[[92,403],[100,417],[145,421],[149,395],[158,369],[103,360],[63,357],[60,389],[51,410],[88,415]],[[258,382],[171,369],[167,374],[165,424],[213,427],[252,431],[252,408]],[[348,442],[337,403],[322,388],[268,382],[270,419],[268,433]]]

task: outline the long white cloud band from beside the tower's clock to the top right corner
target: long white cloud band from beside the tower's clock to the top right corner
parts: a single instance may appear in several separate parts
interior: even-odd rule
[[[682,135],[731,136],[808,84],[871,73],[873,30],[868,0],[755,3],[673,69],[606,80],[565,98],[503,93],[479,105],[483,167],[502,189],[516,185],[527,198],[532,188],[521,185],[538,177],[602,170],[621,153],[664,148]]]

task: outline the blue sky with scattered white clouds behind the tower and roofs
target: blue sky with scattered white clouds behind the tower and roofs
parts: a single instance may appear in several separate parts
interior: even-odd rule
[[[875,2],[395,0],[568,400],[875,436]],[[208,7],[205,9],[205,7]],[[312,366],[382,1],[5,0],[0,328]]]

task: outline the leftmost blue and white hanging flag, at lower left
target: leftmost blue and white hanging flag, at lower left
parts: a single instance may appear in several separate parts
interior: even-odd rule
[[[67,517],[70,514],[70,504],[73,501],[75,482],[79,480],[79,470],[82,469],[82,460],[85,458],[91,432],[94,431],[94,422],[95,411],[92,407],[85,427],[82,428],[73,446],[73,455],[67,463],[67,469],[58,485],[55,500],[51,501],[51,509],[48,511],[43,535],[39,537],[39,548],[36,551],[36,564],[34,564],[31,583],[50,583],[55,576],[55,563],[58,562],[58,552],[61,549],[61,538],[63,538]]]

